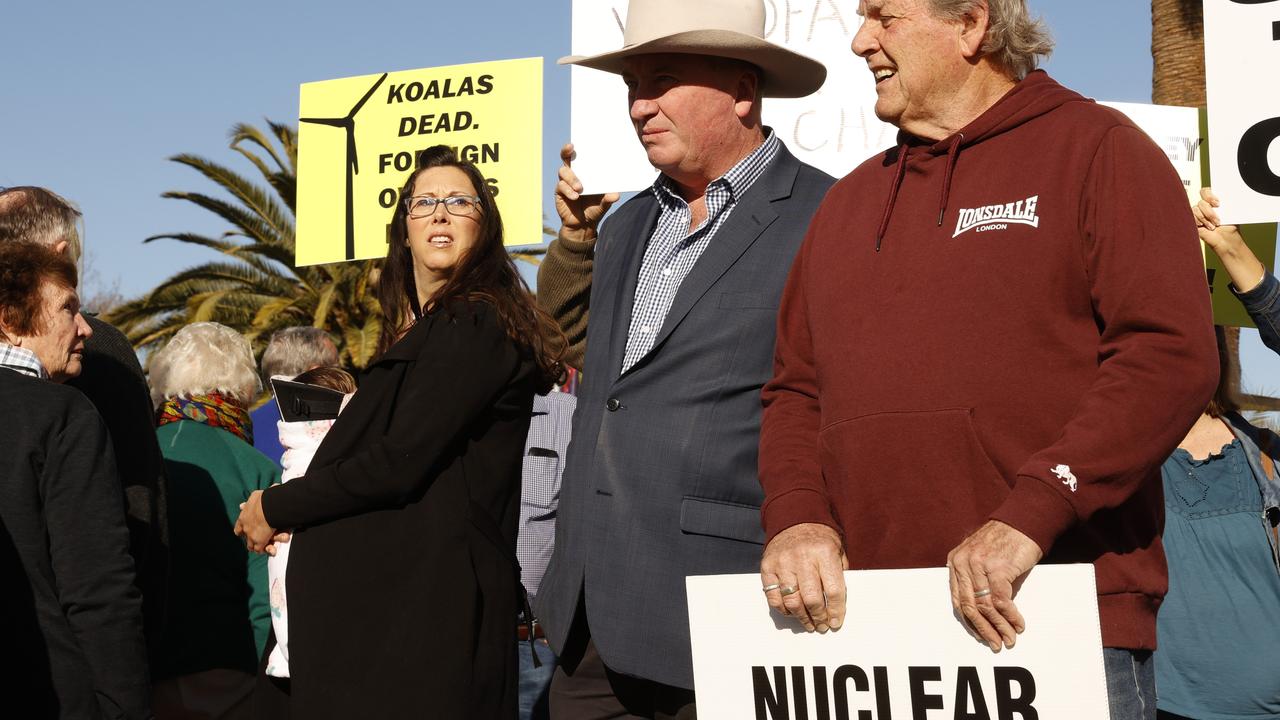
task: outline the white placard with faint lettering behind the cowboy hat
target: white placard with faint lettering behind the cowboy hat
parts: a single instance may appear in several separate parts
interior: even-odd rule
[[[827,65],[827,82],[809,97],[764,99],[764,124],[801,160],[836,177],[893,145],[897,128],[874,113],[876,86],[850,44],[861,18],[856,0],[764,0],[765,38]],[[573,0],[573,53],[622,47],[626,0]],[[616,74],[572,69],[573,168],[586,192],[635,191],[653,183]]]

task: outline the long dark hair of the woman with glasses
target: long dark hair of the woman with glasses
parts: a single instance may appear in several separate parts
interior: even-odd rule
[[[561,382],[564,368],[562,357],[567,341],[556,320],[534,304],[529,286],[516,269],[502,242],[502,217],[493,200],[493,192],[484,174],[472,163],[460,160],[444,145],[428,147],[417,159],[417,169],[399,192],[396,214],[392,215],[387,259],[378,281],[378,300],[383,311],[383,332],[378,351],[387,352],[422,314],[419,306],[417,283],[413,279],[413,255],[408,249],[408,209],[404,200],[413,195],[417,176],[431,168],[457,168],[466,173],[480,197],[477,222],[480,234],[475,245],[458,259],[453,273],[444,284],[428,299],[428,307],[447,310],[463,300],[484,300],[494,306],[498,322],[517,346],[525,348],[538,364],[544,379],[541,391]]]

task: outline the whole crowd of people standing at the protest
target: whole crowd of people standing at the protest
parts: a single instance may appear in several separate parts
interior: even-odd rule
[[[824,634],[892,601],[842,570],[945,565],[1001,652],[1050,621],[1021,578],[1089,562],[1112,720],[1280,717],[1280,436],[1239,413],[1197,232],[1276,352],[1280,281],[1037,69],[1024,0],[859,13],[900,132],[838,181],[763,124],[826,68],[762,0],[631,0],[622,49],[563,58],[621,76],[659,176],[605,219],[566,145],[536,296],[480,169],[425,150],[358,378],[316,328],[255,361],[216,323],[143,372],[81,313],[74,205],[0,191],[0,687],[32,717],[686,719],[686,577],[758,573]]]

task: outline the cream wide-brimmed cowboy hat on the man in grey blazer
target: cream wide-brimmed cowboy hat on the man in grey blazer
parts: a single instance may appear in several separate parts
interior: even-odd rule
[[[562,65],[621,73],[623,60],[652,53],[686,53],[733,58],[760,68],[760,95],[804,97],[827,79],[827,68],[813,58],[764,40],[762,0],[631,0],[622,50],[568,55]]]

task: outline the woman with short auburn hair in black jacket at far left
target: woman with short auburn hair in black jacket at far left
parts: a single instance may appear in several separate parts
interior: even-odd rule
[[[110,436],[61,384],[92,334],[76,283],[59,251],[0,242],[0,716],[141,720],[142,597]]]

